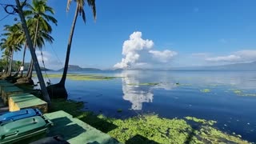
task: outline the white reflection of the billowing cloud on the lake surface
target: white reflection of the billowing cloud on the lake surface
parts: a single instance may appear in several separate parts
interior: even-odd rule
[[[119,75],[122,77],[122,92],[123,99],[132,103],[132,110],[142,110],[143,102],[153,102],[154,89],[172,90],[175,87],[174,83],[166,82],[169,78],[164,75],[159,76],[157,81],[154,81],[152,74],[144,74],[145,71],[124,70]],[[155,83],[158,85],[140,85],[141,83]]]

